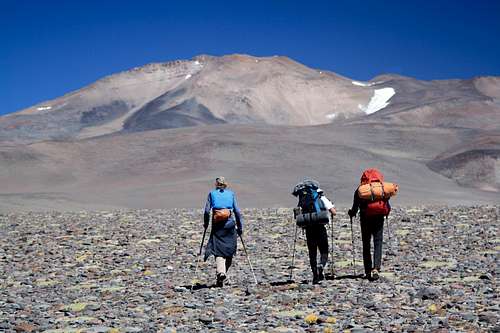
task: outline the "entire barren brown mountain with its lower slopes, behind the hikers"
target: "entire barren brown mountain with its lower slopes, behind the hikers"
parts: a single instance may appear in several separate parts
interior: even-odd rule
[[[245,206],[293,205],[305,176],[347,205],[368,167],[403,204],[497,202],[499,127],[498,77],[358,82],[203,55],[0,117],[0,208],[196,207],[221,174]]]

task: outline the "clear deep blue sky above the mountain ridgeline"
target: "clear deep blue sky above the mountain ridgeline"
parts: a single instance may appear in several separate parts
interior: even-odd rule
[[[229,53],[358,80],[500,75],[500,1],[0,0],[0,114],[149,62]]]

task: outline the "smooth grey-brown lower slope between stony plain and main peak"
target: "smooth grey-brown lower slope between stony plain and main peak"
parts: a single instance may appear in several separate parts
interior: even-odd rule
[[[244,207],[294,205],[290,190],[303,177],[318,179],[346,206],[368,167],[400,184],[399,205],[495,202],[497,193],[462,188],[426,167],[467,135],[383,125],[224,124],[41,142],[9,154],[2,149],[0,206],[199,207],[218,175],[227,177]]]

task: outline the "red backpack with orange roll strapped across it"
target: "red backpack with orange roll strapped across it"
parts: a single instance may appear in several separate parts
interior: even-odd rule
[[[391,191],[388,192],[388,189]],[[384,175],[377,169],[365,170],[358,187],[360,199],[368,201],[365,216],[388,215],[390,212],[388,200],[397,190],[397,185],[384,183]]]

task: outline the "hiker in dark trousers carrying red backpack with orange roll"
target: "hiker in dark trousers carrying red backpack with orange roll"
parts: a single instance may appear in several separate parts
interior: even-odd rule
[[[384,182],[383,174],[377,169],[368,169],[361,175],[359,187],[354,191],[352,208],[348,214],[356,216],[359,209],[361,239],[363,241],[363,264],[365,277],[370,281],[379,279],[382,264],[382,242],[384,236],[384,217],[391,212],[389,199],[398,191],[398,186]],[[373,238],[373,261],[371,239]]]

